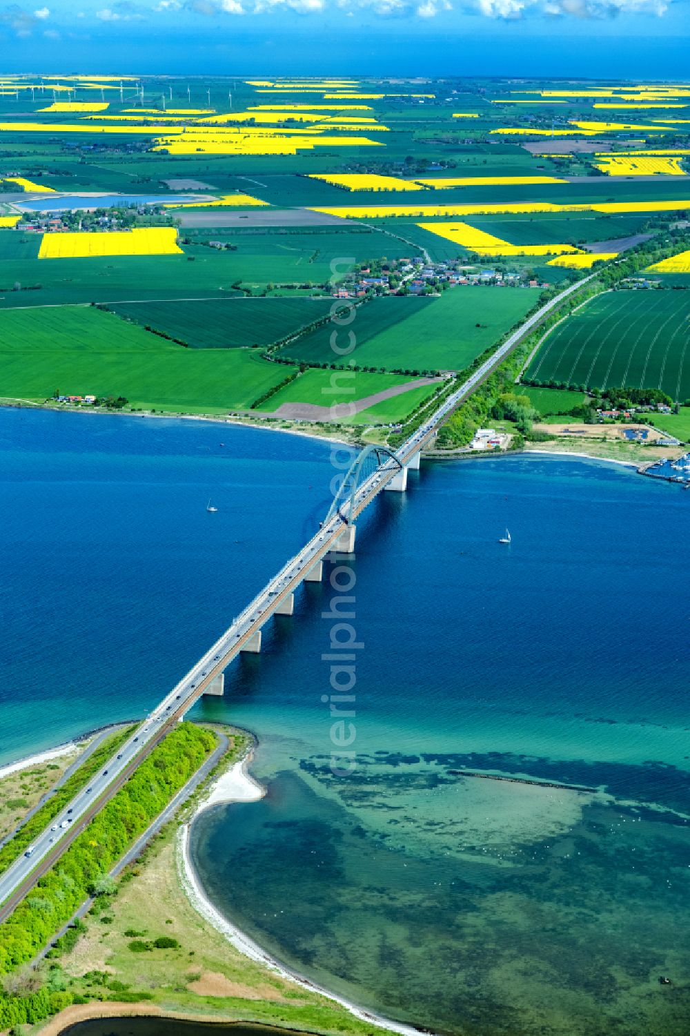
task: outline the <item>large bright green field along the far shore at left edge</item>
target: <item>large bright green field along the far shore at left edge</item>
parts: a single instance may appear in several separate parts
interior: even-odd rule
[[[133,406],[246,409],[290,368],[247,349],[185,349],[91,307],[0,313],[0,397],[124,396]]]

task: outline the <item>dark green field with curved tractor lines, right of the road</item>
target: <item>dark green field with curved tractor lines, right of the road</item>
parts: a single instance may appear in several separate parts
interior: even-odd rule
[[[546,337],[525,379],[588,388],[661,388],[690,396],[687,291],[597,295]]]

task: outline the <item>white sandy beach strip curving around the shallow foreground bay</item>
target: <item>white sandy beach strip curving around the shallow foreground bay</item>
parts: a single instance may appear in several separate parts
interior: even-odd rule
[[[263,950],[261,946],[259,946],[259,944],[256,943],[250,936],[233,924],[232,921],[228,920],[228,918],[226,918],[210,901],[202,889],[190,853],[192,824],[201,812],[211,806],[221,804],[230,805],[233,802],[257,802],[265,796],[266,788],[248,772],[247,768],[252,760],[252,755],[253,750],[250,748],[241,759],[235,762],[225,774],[222,774],[221,777],[213,782],[209,789],[209,795],[199,804],[191,821],[186,824],[180,825],[179,827],[176,846],[177,874],[190,904],[197,911],[198,914],[201,915],[201,917],[204,918],[204,920],[212,925],[217,931],[224,936],[228,942],[246,957],[255,960],[257,963],[263,965],[270,971],[280,975],[282,978],[288,979],[296,985],[301,986],[301,988],[309,989],[312,992],[318,992],[322,997],[326,997],[328,1000],[335,1001],[342,1007],[345,1007],[361,1021],[368,1021],[379,1029],[399,1033],[400,1036],[419,1036],[422,1031],[421,1029],[415,1028],[414,1026],[405,1025],[402,1021],[394,1021],[391,1018],[383,1017],[382,1015],[376,1014],[372,1011],[367,1011],[364,1008],[358,1007],[356,1004],[353,1004],[351,1001],[346,1000],[344,997],[332,992],[324,986],[321,986],[316,982],[312,982],[304,975],[300,975],[298,972],[292,971],[290,968],[281,963],[269,953]]]

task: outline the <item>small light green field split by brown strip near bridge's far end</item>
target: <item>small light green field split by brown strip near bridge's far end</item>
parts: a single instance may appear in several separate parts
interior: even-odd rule
[[[284,369],[281,368],[279,369]],[[257,407],[257,411],[271,412],[286,403],[311,403],[330,407],[356,402],[367,396],[383,392],[409,382],[398,374],[371,374],[367,371],[321,371],[310,368],[294,381],[279,388],[269,399]],[[342,419],[345,424],[378,422],[381,424],[401,421],[419,403],[434,391],[435,385],[422,385],[407,393],[393,396],[375,403],[352,418]]]

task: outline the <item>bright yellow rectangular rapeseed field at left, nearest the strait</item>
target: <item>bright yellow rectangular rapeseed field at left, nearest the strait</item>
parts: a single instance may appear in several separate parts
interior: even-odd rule
[[[140,227],[105,233],[44,234],[39,259],[92,259],[97,256],[182,255],[174,227]]]

